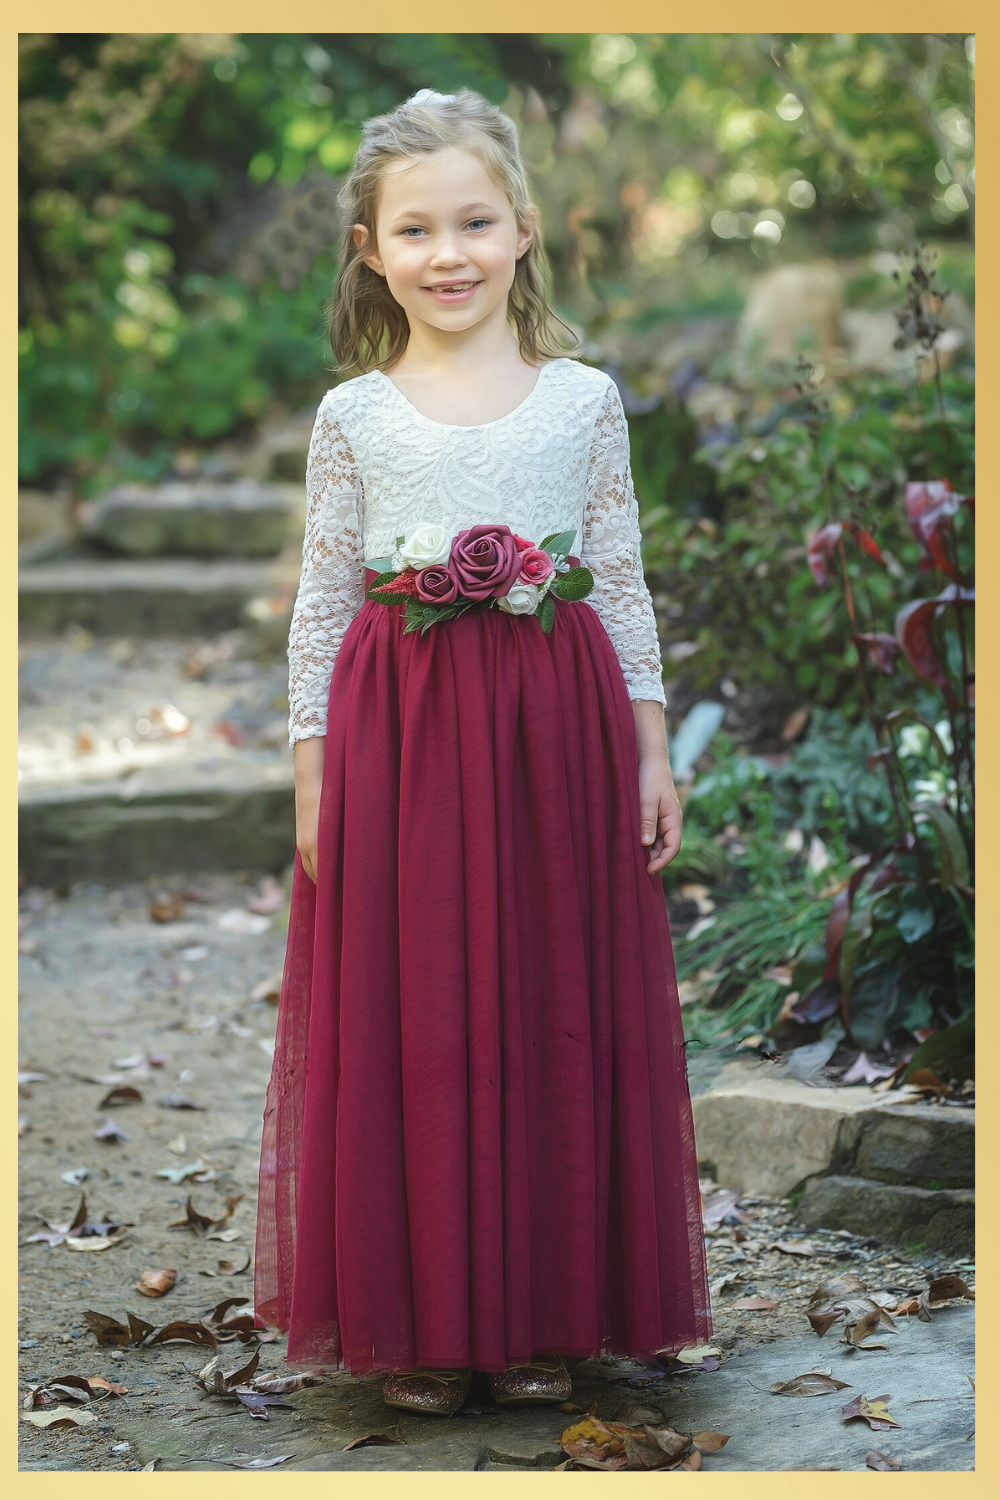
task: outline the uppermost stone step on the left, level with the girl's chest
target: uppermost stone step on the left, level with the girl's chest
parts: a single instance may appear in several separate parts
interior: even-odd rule
[[[82,536],[127,556],[276,556],[301,486],[174,480],[120,484],[82,507]]]

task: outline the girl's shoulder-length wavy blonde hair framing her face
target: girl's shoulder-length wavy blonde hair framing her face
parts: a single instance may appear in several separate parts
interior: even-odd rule
[[[517,126],[472,88],[459,88],[454,94],[420,88],[388,114],[366,120],[357,156],[337,194],[343,242],[340,268],[327,302],[327,318],[339,374],[360,375],[370,369],[390,369],[406,348],[406,314],[390,292],[385,278],[366,266],[363,255],[370,254],[376,244],[375,218],[387,165],[399,158],[427,156],[450,146],[474,152],[496,186],[507,194],[517,226],[525,228],[529,222],[535,206],[520,159]],[[355,224],[363,224],[369,232],[363,248],[354,243]],[[549,302],[549,262],[535,228],[531,244],[514,262],[514,280],[507,300],[508,320],[517,333],[522,358],[528,363],[559,358],[568,350],[579,352],[580,348],[577,334]]]

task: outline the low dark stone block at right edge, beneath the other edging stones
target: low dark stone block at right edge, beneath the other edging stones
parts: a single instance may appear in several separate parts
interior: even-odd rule
[[[928,1191],[867,1178],[813,1178],[795,1212],[807,1228],[846,1228],[946,1257],[976,1251],[976,1194],[969,1188]]]

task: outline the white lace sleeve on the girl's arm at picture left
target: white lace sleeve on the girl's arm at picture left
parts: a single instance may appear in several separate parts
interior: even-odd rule
[[[327,732],[333,663],[364,603],[363,486],[340,424],[324,402],[306,466],[306,537],[288,634],[288,741]]]

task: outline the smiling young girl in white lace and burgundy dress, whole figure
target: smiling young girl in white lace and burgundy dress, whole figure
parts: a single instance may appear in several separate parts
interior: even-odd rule
[[[628,432],[562,352],[499,110],[420,90],[340,202],[331,344],[361,374],[309,453],[256,1311],[393,1406],[450,1414],[474,1370],[565,1401],[565,1359],[711,1332]],[[564,532],[594,588],[543,628]],[[367,597],[387,558],[486,592],[406,630]]]

